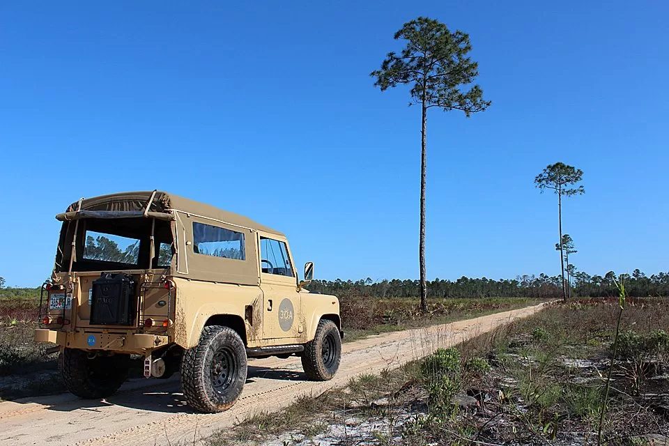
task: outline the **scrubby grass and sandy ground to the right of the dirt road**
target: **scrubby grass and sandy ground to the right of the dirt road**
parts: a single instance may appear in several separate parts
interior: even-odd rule
[[[616,310],[613,299],[553,303],[424,360],[257,414],[207,444],[594,445]],[[667,435],[666,327],[668,301],[628,302],[602,426],[607,445]]]

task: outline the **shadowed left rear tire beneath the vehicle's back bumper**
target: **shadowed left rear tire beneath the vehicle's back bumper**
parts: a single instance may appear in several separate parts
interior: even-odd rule
[[[96,356],[77,348],[64,348],[58,368],[70,392],[85,399],[111,397],[128,378],[130,355]]]

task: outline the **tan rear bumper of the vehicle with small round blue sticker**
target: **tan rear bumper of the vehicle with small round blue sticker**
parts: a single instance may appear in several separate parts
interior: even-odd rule
[[[52,342],[61,347],[80,348],[83,350],[128,352],[142,352],[169,344],[169,338],[163,334],[61,332],[45,328],[35,330],[35,341]]]

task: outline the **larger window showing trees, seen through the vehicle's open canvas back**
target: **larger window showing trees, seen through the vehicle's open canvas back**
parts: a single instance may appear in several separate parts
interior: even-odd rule
[[[137,265],[139,239],[86,231],[84,259]]]

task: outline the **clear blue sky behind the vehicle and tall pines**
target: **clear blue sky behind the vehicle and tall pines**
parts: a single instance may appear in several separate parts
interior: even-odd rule
[[[420,109],[369,72],[426,15],[470,34],[492,107],[428,117],[427,272],[669,270],[669,4],[20,2],[0,5],[0,276],[52,269],[79,197],[167,190],[284,231],[316,277],[416,278]]]

